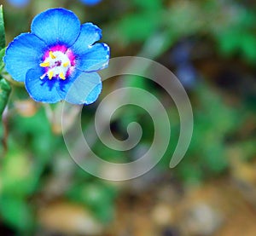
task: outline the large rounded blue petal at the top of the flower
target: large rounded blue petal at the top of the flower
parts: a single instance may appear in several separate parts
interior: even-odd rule
[[[79,36],[80,21],[67,9],[49,9],[32,20],[31,31],[49,46],[63,43],[70,47]]]

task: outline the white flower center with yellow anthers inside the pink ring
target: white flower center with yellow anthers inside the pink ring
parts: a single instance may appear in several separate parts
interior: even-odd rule
[[[47,76],[49,79],[61,78],[65,80],[71,64],[68,56],[63,52],[49,51],[49,55],[40,63],[40,66],[45,68],[45,73],[40,78],[43,79]]]

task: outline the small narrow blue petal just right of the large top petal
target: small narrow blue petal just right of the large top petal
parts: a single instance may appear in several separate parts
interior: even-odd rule
[[[71,50],[74,54],[79,55],[84,50],[90,48],[90,45],[102,38],[102,30],[92,23],[85,23],[81,26],[81,32],[76,43],[73,44]]]

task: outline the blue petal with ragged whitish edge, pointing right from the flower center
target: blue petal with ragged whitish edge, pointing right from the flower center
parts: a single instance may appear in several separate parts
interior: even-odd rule
[[[77,68],[83,72],[96,72],[108,67],[109,47],[106,43],[96,43],[84,54],[78,55]]]

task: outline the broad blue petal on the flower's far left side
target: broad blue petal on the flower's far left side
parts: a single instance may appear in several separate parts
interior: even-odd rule
[[[26,72],[39,65],[46,47],[41,39],[31,33],[15,37],[3,58],[7,72],[15,80],[24,82]]]

